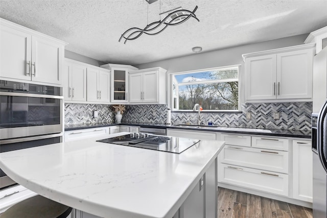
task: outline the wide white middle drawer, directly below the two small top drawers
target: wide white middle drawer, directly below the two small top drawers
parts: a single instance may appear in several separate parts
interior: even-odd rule
[[[221,152],[222,163],[288,173],[288,152],[226,145]]]

